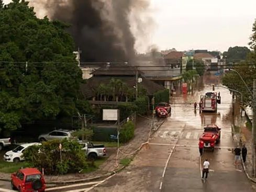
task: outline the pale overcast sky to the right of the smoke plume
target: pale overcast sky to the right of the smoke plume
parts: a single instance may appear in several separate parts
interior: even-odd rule
[[[248,46],[256,19],[256,0],[149,1],[154,20],[149,44],[160,50],[226,51],[233,46]]]

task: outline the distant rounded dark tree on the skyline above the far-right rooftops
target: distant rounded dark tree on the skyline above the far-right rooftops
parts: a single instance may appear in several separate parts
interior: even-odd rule
[[[247,47],[230,47],[228,51],[223,53],[223,58],[227,58],[228,62],[246,60],[247,54],[250,53]]]

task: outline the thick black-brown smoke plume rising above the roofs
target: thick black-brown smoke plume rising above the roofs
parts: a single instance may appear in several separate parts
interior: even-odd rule
[[[146,8],[147,2],[148,0],[34,0],[30,3],[33,6],[43,4],[48,17],[71,24],[69,31],[76,47],[82,51],[82,61],[124,62],[133,60],[136,52],[130,14],[133,8]]]

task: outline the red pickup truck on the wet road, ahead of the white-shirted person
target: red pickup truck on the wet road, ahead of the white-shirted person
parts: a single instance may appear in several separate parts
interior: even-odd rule
[[[206,126],[199,140],[204,142],[204,148],[214,151],[215,144],[220,141],[220,128],[216,125]]]

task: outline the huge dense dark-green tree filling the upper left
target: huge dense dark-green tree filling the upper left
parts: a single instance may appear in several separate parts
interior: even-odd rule
[[[0,128],[72,116],[84,101],[69,26],[37,18],[24,0],[1,0],[0,15]]]

